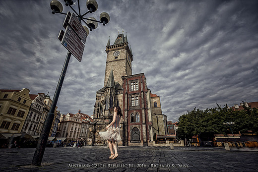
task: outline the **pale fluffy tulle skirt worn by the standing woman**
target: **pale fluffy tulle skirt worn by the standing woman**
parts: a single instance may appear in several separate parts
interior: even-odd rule
[[[120,141],[122,140],[120,136],[120,129],[119,127],[110,126],[107,131],[100,131],[99,135],[103,137],[105,140],[113,140],[113,141]]]

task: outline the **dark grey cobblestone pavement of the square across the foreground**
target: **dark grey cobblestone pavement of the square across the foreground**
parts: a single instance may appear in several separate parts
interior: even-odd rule
[[[31,166],[35,149],[0,149],[2,172],[257,172],[258,148],[107,147],[46,148],[42,166]]]

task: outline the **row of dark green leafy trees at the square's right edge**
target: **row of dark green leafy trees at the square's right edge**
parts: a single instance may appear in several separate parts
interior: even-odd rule
[[[244,110],[233,111],[217,104],[216,108],[193,111],[181,115],[178,119],[177,136],[181,139],[192,138],[200,132],[214,132],[215,134],[231,133],[228,125],[223,122],[235,122],[231,125],[233,133],[247,133],[253,131],[258,134],[258,109],[244,106]]]

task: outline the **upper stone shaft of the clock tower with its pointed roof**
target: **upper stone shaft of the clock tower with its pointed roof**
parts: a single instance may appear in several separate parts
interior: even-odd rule
[[[104,78],[104,86],[107,85],[111,70],[113,70],[114,79],[120,85],[123,85],[122,76],[129,76],[131,72],[132,52],[128,46],[127,35],[118,34],[116,41],[110,45],[110,39],[106,46],[107,60]]]

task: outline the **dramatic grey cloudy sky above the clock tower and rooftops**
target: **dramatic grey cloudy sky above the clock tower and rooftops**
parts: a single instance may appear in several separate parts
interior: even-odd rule
[[[57,36],[65,15],[51,0],[0,0],[0,89],[28,88],[53,98],[66,49]],[[69,10],[63,3],[64,11]],[[111,21],[90,32],[79,62],[71,57],[61,113],[92,115],[103,87],[108,38],[127,32],[132,73],[144,73],[162,113],[180,115],[258,101],[258,0],[98,0]],[[80,0],[86,11],[86,0]],[[76,7],[75,7],[76,8]]]

